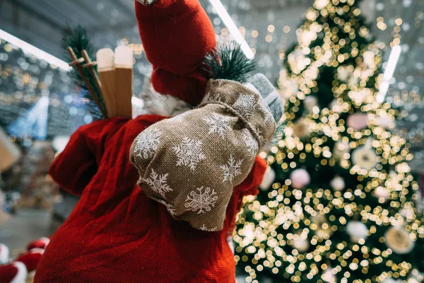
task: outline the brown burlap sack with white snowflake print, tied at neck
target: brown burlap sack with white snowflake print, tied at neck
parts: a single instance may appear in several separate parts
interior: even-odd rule
[[[208,82],[199,108],[151,125],[130,158],[139,186],[175,219],[196,229],[223,229],[232,190],[242,183],[276,122],[259,95],[235,81]]]

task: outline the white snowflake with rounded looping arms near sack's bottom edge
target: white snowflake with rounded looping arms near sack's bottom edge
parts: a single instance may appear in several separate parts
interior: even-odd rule
[[[193,190],[187,195],[184,207],[192,212],[197,212],[197,214],[210,212],[211,207],[215,207],[215,203],[218,200],[215,190],[211,192],[209,187],[206,187],[204,190],[203,186],[196,188],[196,190]]]

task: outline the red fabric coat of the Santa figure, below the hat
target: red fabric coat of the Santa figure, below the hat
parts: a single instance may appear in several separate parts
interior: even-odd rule
[[[135,185],[139,176],[129,148],[161,119],[101,120],[72,135],[49,173],[81,200],[52,236],[35,283],[235,282],[227,237],[242,197],[257,192],[266,163],[257,158],[247,180],[235,187],[222,231],[193,229]]]

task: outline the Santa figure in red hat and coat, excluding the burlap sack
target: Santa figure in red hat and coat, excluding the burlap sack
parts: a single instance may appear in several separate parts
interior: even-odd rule
[[[139,0],[136,17],[155,91],[187,109],[204,98],[201,61],[216,35],[197,0]],[[181,103],[175,103],[181,105]],[[170,111],[172,112],[172,111]],[[256,158],[248,177],[232,190],[220,231],[194,229],[136,185],[129,160],[137,135],[165,116],[115,117],[79,128],[49,174],[81,196],[50,238],[35,282],[235,282],[232,235],[242,197],[257,193],[266,162]],[[217,149],[219,150],[219,149]]]

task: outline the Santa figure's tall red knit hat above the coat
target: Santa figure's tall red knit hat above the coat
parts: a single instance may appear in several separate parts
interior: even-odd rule
[[[158,0],[152,6],[136,1],[143,47],[153,64],[156,91],[192,105],[204,96],[206,80],[199,69],[216,46],[213,25],[198,0]]]

